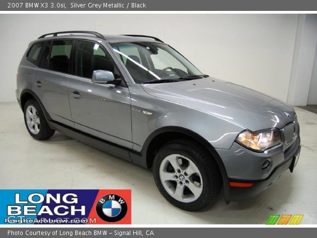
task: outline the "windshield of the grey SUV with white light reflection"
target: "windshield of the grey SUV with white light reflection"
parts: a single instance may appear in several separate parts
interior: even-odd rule
[[[193,64],[165,44],[129,42],[112,43],[111,46],[136,83],[202,75]]]

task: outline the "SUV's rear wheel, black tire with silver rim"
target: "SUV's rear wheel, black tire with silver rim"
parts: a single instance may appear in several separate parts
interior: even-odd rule
[[[37,140],[51,138],[55,130],[51,129],[39,103],[30,99],[24,105],[24,122],[29,134]]]

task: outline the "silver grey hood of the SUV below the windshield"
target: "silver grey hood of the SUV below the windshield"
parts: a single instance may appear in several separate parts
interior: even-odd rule
[[[252,131],[282,128],[295,117],[293,108],[286,103],[211,77],[141,85],[152,96],[204,111]]]

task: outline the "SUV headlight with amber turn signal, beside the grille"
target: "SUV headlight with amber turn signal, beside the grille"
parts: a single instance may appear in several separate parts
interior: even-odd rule
[[[261,132],[242,131],[236,141],[252,150],[264,151],[281,143],[281,132],[278,129],[270,129]]]

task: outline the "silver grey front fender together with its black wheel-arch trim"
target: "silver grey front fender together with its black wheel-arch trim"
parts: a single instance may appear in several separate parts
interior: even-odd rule
[[[161,133],[177,132],[201,143],[215,159],[221,173],[225,201],[230,201],[229,180],[216,148],[229,149],[244,128],[220,117],[147,94],[140,85],[129,86],[131,95],[133,163],[147,165],[151,141]]]

